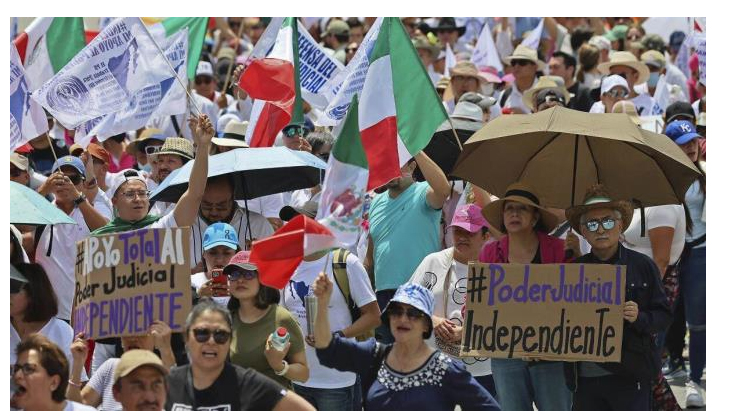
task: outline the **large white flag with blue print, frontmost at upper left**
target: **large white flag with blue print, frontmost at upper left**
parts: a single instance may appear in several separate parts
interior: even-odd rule
[[[123,110],[135,93],[172,77],[140,18],[111,22],[32,96],[64,127]]]

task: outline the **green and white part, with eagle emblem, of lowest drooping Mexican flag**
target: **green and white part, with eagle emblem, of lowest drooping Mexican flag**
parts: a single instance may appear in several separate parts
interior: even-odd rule
[[[359,239],[369,180],[369,163],[359,133],[358,108],[354,96],[328,159],[317,215],[343,248],[352,247]]]

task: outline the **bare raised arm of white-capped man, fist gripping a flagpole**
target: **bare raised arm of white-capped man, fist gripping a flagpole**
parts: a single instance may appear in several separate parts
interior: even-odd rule
[[[197,220],[200,201],[203,194],[205,194],[205,184],[208,180],[210,141],[215,134],[213,124],[205,114],[190,119],[189,125],[195,146],[197,146],[197,154],[192,165],[192,172],[190,172],[190,183],[187,191],[182,194],[182,197],[174,206],[174,220],[177,222],[177,226],[191,226]]]

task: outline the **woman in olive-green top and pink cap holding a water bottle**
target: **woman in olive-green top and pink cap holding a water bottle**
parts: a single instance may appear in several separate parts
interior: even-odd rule
[[[292,381],[305,382],[310,374],[302,330],[292,314],[279,306],[279,291],[259,282],[258,267],[249,261],[249,255],[249,251],[237,253],[223,269],[231,293],[231,362],[253,368],[292,389]],[[272,333],[279,327],[290,334],[282,350],[271,342]]]

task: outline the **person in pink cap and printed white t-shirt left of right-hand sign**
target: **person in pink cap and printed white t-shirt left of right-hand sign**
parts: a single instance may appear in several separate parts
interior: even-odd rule
[[[449,225],[454,246],[435,252],[423,259],[410,277],[409,283],[428,288],[436,302],[433,310],[433,334],[428,345],[458,357],[464,317],[466,281],[470,261],[478,259],[479,251],[490,239],[490,225],[476,204],[459,207]],[[495,383],[492,365],[487,358],[461,359],[466,369],[492,396]]]

